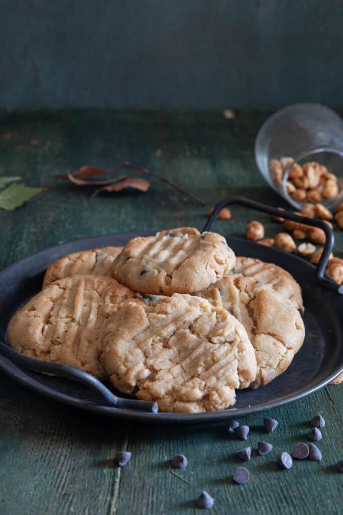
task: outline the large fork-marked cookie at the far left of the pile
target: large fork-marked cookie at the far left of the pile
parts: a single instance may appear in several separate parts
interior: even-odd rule
[[[8,343],[27,356],[71,365],[106,379],[99,362],[106,323],[125,300],[133,298],[129,288],[110,277],[60,279],[14,315]]]

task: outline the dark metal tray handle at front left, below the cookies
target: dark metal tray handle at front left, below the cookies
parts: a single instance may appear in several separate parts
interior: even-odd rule
[[[138,401],[136,399],[123,399],[117,397],[110,391],[104,384],[102,384],[96,377],[78,368],[69,365],[62,365],[60,363],[48,363],[41,359],[25,356],[14,349],[11,349],[4,342],[0,342],[0,354],[5,356],[15,365],[19,365],[34,372],[44,372],[47,374],[58,375],[59,377],[66,377],[66,379],[78,381],[84,385],[96,390],[100,393],[105,405],[113,406],[116,408],[127,408],[140,411],[149,411],[157,413],[158,407],[155,402]]]

